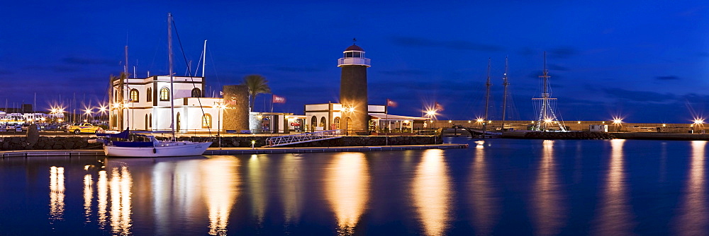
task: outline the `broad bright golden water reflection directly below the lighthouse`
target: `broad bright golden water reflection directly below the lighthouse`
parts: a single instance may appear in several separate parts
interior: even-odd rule
[[[369,170],[364,153],[337,153],[325,174],[325,199],[335,213],[338,235],[354,235],[369,201]]]

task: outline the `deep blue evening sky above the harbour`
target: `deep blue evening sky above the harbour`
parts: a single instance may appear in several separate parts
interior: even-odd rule
[[[139,77],[167,74],[167,12],[196,66],[208,40],[208,93],[257,73],[286,104],[337,102],[337,59],[357,37],[372,59],[370,104],[439,119],[484,113],[492,61],[491,119],[501,118],[509,57],[508,119],[534,119],[543,52],[564,120],[689,122],[709,116],[709,4],[704,1],[87,1],[5,3],[0,9],[0,103],[38,107],[105,100],[123,47]],[[174,40],[177,45],[177,38]],[[178,74],[186,71],[176,51]],[[217,93],[218,94],[218,93]],[[269,110],[257,98],[256,110]],[[78,103],[78,102],[77,102]],[[0,105],[3,107],[4,105]]]

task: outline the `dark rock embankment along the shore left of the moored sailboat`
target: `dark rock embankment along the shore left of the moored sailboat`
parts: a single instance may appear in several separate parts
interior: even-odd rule
[[[35,143],[32,143],[32,142]],[[101,149],[101,143],[89,143],[89,137],[3,137],[0,138],[0,150],[71,150]]]

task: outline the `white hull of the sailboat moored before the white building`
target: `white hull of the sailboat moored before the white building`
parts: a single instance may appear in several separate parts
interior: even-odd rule
[[[155,147],[104,146],[104,154],[112,157],[159,158],[202,155],[212,142],[165,142]]]

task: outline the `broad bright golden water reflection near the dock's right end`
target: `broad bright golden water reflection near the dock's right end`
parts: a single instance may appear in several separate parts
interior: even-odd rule
[[[450,221],[452,191],[440,149],[423,152],[411,184],[411,196],[425,235],[442,235]]]

